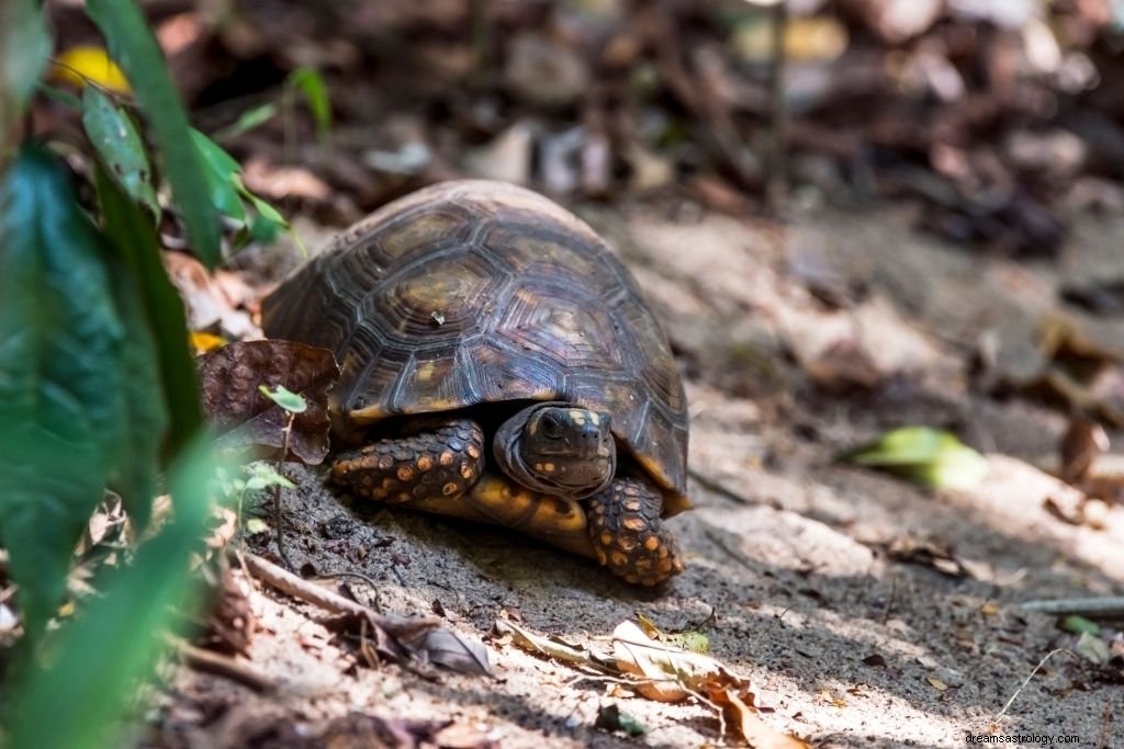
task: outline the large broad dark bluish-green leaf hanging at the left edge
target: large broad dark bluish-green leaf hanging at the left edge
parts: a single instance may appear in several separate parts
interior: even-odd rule
[[[109,290],[67,174],[25,145],[0,189],[0,541],[30,641],[117,464],[125,331]]]

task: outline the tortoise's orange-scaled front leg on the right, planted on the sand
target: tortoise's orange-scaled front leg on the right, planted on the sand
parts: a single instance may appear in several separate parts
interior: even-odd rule
[[[647,484],[619,478],[588,502],[593,550],[614,575],[659,585],[683,572],[679,542],[660,519],[663,499]]]

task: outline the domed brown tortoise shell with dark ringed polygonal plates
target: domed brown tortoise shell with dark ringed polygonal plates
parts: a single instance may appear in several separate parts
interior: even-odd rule
[[[265,334],[332,349],[337,431],[515,400],[607,412],[689,506],[687,401],[668,338],[605,241],[515,185],[445,182],[336,237],[262,305]]]

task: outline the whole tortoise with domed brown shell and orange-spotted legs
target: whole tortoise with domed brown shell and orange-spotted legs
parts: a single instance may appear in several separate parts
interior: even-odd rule
[[[262,305],[335,353],[332,478],[362,497],[519,529],[625,581],[682,572],[687,401],[635,281],[583,221],[461,180],[388,203]]]

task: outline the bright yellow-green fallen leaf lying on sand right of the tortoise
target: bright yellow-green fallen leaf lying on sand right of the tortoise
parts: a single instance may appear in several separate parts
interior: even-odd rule
[[[984,479],[988,469],[987,459],[955,435],[931,427],[895,429],[841,457],[937,488],[971,488]]]

